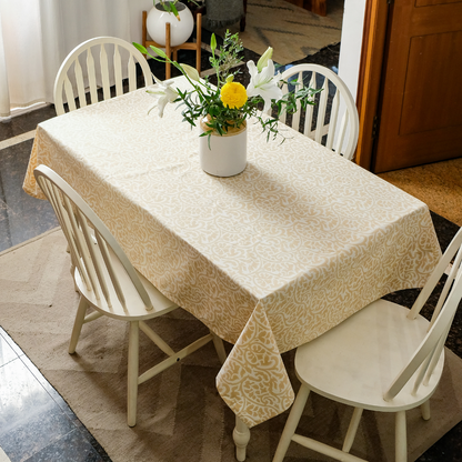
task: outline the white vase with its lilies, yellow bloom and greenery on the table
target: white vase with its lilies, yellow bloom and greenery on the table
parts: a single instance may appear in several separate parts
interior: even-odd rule
[[[234,81],[239,73],[237,64],[241,61],[243,50],[238,33],[227,31],[223,46],[217,49],[217,39],[212,34],[210,63],[217,73],[217,86],[209,81],[209,77],[201,79],[198,71],[188,64],[172,61],[162,50],[151,47],[154,56],[139,43],[133,43],[142,53],[151,56],[162,62],[170,62],[187,78],[190,83],[188,90],[174,88],[174,81],[160,81],[155,76],[157,86],[147,92],[159,97],[150,111],[158,107],[159,116],[163,116],[165,106],[181,103],[183,120],[191,127],[199,125],[199,154],[201,167],[208,173],[218,177],[238,174],[247,165],[247,122],[253,119],[260,123],[267,133],[267,141],[285,137],[279,131],[279,117],[285,111],[293,114],[300,103],[303,109],[314,104],[314,94],[320,90],[300,86],[291,81],[295,91],[283,94],[281,74],[274,71],[271,59],[272,48],[263,53],[255,64],[247,63],[250,83],[243,87]],[[271,114],[272,113],[272,114]]]

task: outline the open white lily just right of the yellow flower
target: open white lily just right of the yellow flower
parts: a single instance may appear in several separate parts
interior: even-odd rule
[[[271,108],[271,101],[279,101],[282,98],[282,90],[279,88],[279,81],[281,80],[281,73],[274,74],[274,63],[271,59],[268,60],[261,72],[259,72],[253,61],[248,61],[247,67],[250,73],[250,83],[247,87],[247,96],[261,97],[264,100],[263,112],[267,112]]]

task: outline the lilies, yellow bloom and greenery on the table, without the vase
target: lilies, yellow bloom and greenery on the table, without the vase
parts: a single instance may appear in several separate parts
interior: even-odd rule
[[[250,73],[250,83],[243,87],[234,81],[239,70],[235,70],[240,60],[240,52],[243,50],[238,33],[231,34],[227,31],[223,44],[217,49],[217,39],[212,34],[210,48],[212,56],[210,63],[217,74],[217,86],[209,81],[209,77],[201,79],[198,71],[188,64],[180,64],[172,61],[163,50],[150,47],[154,51],[151,54],[144,47],[133,43],[142,53],[151,58],[170,62],[179,69],[191,84],[191,89],[182,91],[173,88],[172,81],[160,81],[155,76],[157,88],[147,90],[152,96],[160,97],[150,111],[157,106],[159,116],[163,116],[165,106],[170,103],[180,103],[182,108],[183,120],[191,127],[195,127],[197,121],[202,121],[207,130],[201,137],[212,133],[223,135],[230,129],[239,129],[250,118],[255,118],[261,123],[263,132],[267,132],[267,140],[278,135],[285,139],[279,133],[278,121],[282,111],[292,114],[298,110],[298,103],[303,109],[308,104],[314,104],[314,94],[320,90],[301,86],[295,91],[282,93],[281,74],[275,72],[274,63],[271,59],[272,48],[261,56],[258,63],[248,61],[247,67]],[[298,86],[297,81],[291,81],[291,86]],[[271,116],[270,112],[273,114]]]

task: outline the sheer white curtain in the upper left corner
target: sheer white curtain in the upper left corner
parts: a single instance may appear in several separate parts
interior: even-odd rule
[[[53,102],[54,78],[79,43],[130,41],[129,0],[0,0],[0,117]]]

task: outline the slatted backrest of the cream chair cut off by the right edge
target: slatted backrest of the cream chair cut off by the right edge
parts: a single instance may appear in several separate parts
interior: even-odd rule
[[[451,261],[453,263],[451,265]],[[409,319],[415,319],[423,305],[432,294],[436,283],[441,280],[448,268],[451,268],[448,279],[443,285],[442,292],[433,311],[429,325],[429,332],[422,340],[420,346],[395,378],[389,390],[384,393],[385,401],[392,400],[409,382],[409,380],[419,370],[413,384],[412,393],[415,394],[419,386],[429,382],[434,368],[440,360],[444,342],[451,329],[452,320],[462,299],[462,229],[455,234],[436,268],[423,287],[418,299],[415,300]],[[419,369],[420,368],[420,369]]]

